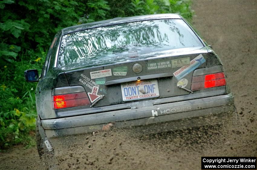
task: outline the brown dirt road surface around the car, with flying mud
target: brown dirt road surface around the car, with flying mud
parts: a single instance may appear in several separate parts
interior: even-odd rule
[[[115,132],[88,136],[50,169],[200,169],[201,156],[257,156],[257,2],[193,1],[193,26],[223,61],[239,125],[141,138]],[[0,169],[47,169],[36,147],[0,153]]]

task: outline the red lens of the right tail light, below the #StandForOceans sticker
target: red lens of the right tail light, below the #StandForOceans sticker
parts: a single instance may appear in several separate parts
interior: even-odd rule
[[[192,79],[191,90],[200,90],[205,88],[219,87],[226,85],[226,79],[223,72],[194,76]]]

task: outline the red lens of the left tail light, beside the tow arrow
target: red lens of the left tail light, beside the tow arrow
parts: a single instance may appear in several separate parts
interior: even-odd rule
[[[53,96],[54,109],[90,105],[86,92],[62,94]]]

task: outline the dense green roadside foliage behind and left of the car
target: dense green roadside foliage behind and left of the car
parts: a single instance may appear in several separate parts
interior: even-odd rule
[[[35,128],[36,83],[24,70],[41,70],[57,31],[114,17],[179,13],[192,17],[190,0],[2,0],[0,2],[0,148],[29,143]]]

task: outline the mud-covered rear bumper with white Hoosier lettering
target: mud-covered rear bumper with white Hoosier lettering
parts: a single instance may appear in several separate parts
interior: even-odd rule
[[[60,137],[101,130],[102,126],[109,122],[114,123],[116,128],[135,127],[134,131],[156,133],[216,124],[224,116],[235,116],[234,111],[234,98],[230,93],[136,109],[46,119],[41,120],[41,123],[49,141],[57,142],[60,141]]]

